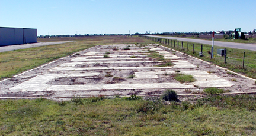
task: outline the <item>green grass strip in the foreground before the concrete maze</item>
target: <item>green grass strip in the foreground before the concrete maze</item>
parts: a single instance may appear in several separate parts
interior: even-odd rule
[[[0,134],[256,135],[255,95],[209,96],[193,104],[102,96],[75,99],[0,100]]]

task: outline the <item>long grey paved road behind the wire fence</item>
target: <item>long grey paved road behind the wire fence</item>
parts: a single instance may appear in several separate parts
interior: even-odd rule
[[[179,38],[179,37],[161,37],[161,36],[156,36],[156,35],[147,35],[147,36],[165,38],[165,39],[176,39],[178,41],[197,42],[197,43],[200,43],[200,44],[212,45],[212,41],[203,40],[203,39],[189,39],[189,38]],[[256,51],[256,44],[242,44],[242,43],[236,43],[236,42],[214,41],[214,45],[219,46],[219,47],[248,49],[248,50]]]

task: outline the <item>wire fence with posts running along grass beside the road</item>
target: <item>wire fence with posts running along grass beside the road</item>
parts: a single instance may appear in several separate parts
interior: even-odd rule
[[[177,41],[167,38],[148,37],[145,35],[142,37],[177,51],[203,59],[204,61],[212,62],[213,64],[220,65],[221,67],[226,67],[235,72],[241,72],[248,77],[256,79],[255,51],[225,48],[215,45],[213,48],[213,58],[211,58],[212,45]],[[224,49],[226,49],[226,58],[225,54],[223,54]],[[222,52],[222,54],[220,52]]]

